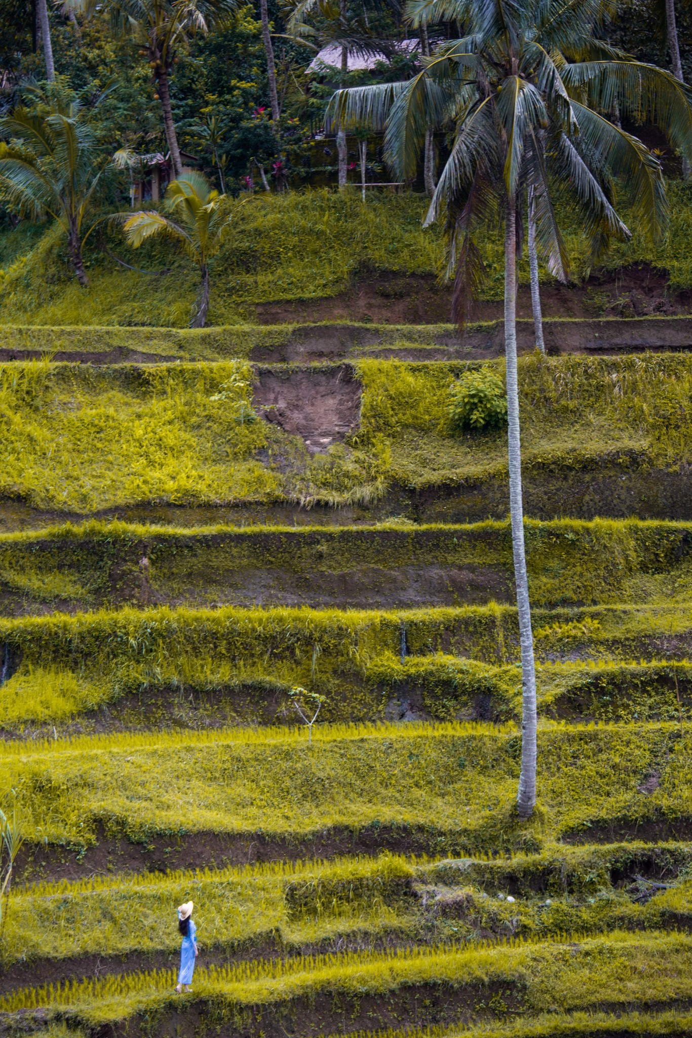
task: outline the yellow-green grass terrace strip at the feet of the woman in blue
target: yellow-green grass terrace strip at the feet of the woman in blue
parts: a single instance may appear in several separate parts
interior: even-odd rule
[[[200,967],[194,1004],[200,1011],[213,1003],[218,1022],[233,1012],[240,1022],[253,1008],[271,1007],[283,1014],[320,994],[335,999],[335,1009],[352,999],[392,999],[411,987],[433,985],[471,989],[477,1008],[482,1002],[491,1017],[505,1016],[507,1003],[524,1013],[598,1009],[604,1003],[631,1011],[637,1004],[674,1004],[690,998],[691,966],[692,937],[651,934],[633,939],[615,932],[578,943],[403,949]],[[76,1022],[124,1020],[136,1013],[179,1010],[174,978],[170,969],[25,989],[3,998],[0,1010],[48,1005]],[[494,1005],[483,1002],[493,995]]]

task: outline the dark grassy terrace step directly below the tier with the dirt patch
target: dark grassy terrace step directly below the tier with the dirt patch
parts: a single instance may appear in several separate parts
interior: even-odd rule
[[[534,605],[692,600],[689,522],[527,520],[525,539]],[[146,588],[142,554],[149,562]],[[27,611],[32,602],[90,607],[143,604],[153,596],[172,603],[220,603],[244,589],[251,596],[255,571],[276,571],[286,595],[292,575],[361,572],[377,588],[390,572],[420,567],[470,568],[469,594],[482,594],[473,583],[478,575],[488,580],[488,597],[511,600],[509,524],[398,520],[375,526],[190,530],[90,520],[0,535],[0,588],[7,603],[22,602]]]

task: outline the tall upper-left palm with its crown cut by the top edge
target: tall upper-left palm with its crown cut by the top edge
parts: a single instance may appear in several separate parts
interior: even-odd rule
[[[236,0],[70,0],[70,6],[87,13],[98,7],[109,16],[114,34],[132,39],[146,57],[161,101],[173,173],[179,177],[183,161],[170,100],[171,72],[191,37],[221,27]]]

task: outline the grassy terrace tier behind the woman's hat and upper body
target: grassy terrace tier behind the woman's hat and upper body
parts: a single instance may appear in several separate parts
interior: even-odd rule
[[[99,876],[16,890],[3,961],[177,951],[172,908],[197,905],[202,948],[286,954],[322,941],[431,943],[515,934],[653,930],[692,925],[689,845],[555,848],[511,859],[422,861],[383,854],[331,863],[277,863],[220,871]],[[611,883],[654,868],[673,883],[643,904]],[[520,893],[521,891],[521,893]],[[416,893],[417,892],[417,893]],[[509,902],[504,895],[515,896]],[[548,899],[548,900],[546,900]],[[138,924],[133,927],[132,921]]]

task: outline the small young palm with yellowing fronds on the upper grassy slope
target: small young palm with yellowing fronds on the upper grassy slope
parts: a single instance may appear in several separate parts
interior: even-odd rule
[[[210,301],[209,262],[218,253],[232,220],[220,195],[201,173],[187,173],[168,185],[164,213],[133,213],[124,224],[131,245],[137,248],[147,238],[166,235],[183,247],[199,267],[197,313],[191,328],[203,328]],[[167,216],[166,214],[170,214]],[[173,219],[175,217],[175,219]]]

